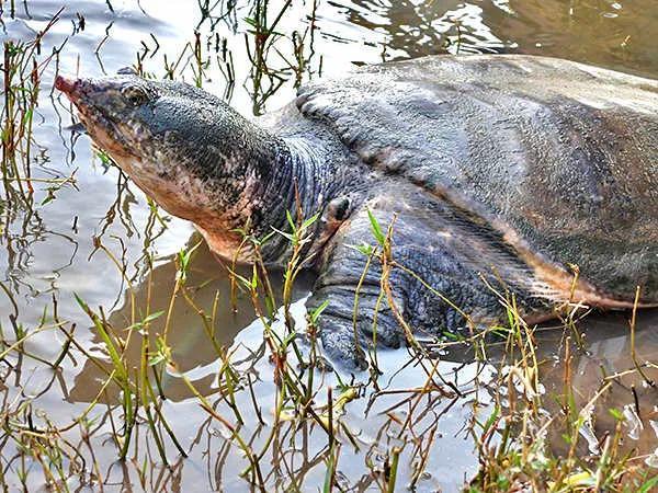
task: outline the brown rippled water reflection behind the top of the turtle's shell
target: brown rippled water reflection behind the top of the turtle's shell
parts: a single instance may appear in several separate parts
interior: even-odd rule
[[[648,77],[658,73],[654,0],[354,0],[343,2],[340,12],[352,24],[374,32],[370,38],[393,59],[443,53],[525,53]],[[352,33],[345,38],[358,39]]]

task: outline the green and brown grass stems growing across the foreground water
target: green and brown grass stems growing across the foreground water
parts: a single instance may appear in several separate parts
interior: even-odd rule
[[[286,326],[283,333],[274,329],[274,319],[262,311],[262,297],[264,296],[272,296],[282,300],[287,298],[290,310],[290,303],[292,302],[291,284],[294,285],[296,282],[295,273],[299,272],[299,265],[305,262],[299,252],[304,250],[303,245],[308,241],[308,231],[311,229],[313,221],[294,219],[293,215],[290,218],[292,223],[288,222],[288,227],[292,232],[285,231],[283,233],[291,242],[291,259],[294,260],[287,263],[283,273],[268,274],[269,276],[273,274],[281,275],[281,298],[273,290],[268,294],[264,288],[265,283],[262,279],[263,271],[260,270],[258,262],[251,270],[250,277],[234,272],[239,289],[243,290],[254,301],[254,311],[260,313],[259,317],[265,334],[265,355],[272,357],[271,367],[273,372],[269,378],[277,388],[272,419],[263,416],[262,405],[266,405],[266,403],[259,402],[258,397],[254,395],[252,377],[245,372],[243,367],[236,366],[230,351],[213,343],[213,328],[216,323],[216,311],[218,310],[216,301],[212,303],[209,312],[212,314],[206,314],[203,307],[195,301],[194,290],[186,285],[195,259],[194,253],[198,251],[197,244],[191,245],[190,249],[175,256],[178,261],[175,276],[177,279],[183,279],[183,282],[174,293],[184,301],[184,305],[197,313],[200,326],[203,328],[208,342],[217,353],[219,362],[216,371],[218,387],[215,397],[204,395],[196,383],[178,369],[173,351],[168,345],[169,341],[164,340],[163,333],[160,334],[160,337],[156,337],[155,346],[150,342],[149,328],[157,320],[163,320],[166,311],[149,312],[147,310],[146,316],[140,319],[137,307],[127,307],[128,312],[135,312],[135,322],[125,330],[136,331],[141,335],[135,340],[135,343],[139,346],[139,354],[135,362],[127,356],[128,345],[132,344],[129,334],[125,334],[125,330],[117,331],[110,325],[103,310],[91,310],[84,301],[79,300],[80,307],[88,313],[100,334],[109,355],[109,362],[106,362],[99,359],[99,356],[82,353],[90,359],[97,359],[98,365],[105,369],[105,379],[99,390],[99,397],[107,395],[107,390],[112,386],[121,389],[118,400],[121,412],[112,406],[107,410],[107,419],[113,423],[112,435],[117,447],[117,457],[125,458],[134,465],[133,467],[143,485],[148,483],[148,470],[154,467],[150,462],[152,459],[148,458],[146,451],[138,452],[137,443],[146,437],[145,434],[148,435],[149,442],[154,444],[157,456],[163,465],[172,466],[178,460],[171,456],[170,446],[164,442],[166,437],[172,445],[178,444],[173,445],[178,457],[186,455],[185,448],[179,442],[179,437],[175,436],[160,405],[162,399],[167,399],[167,392],[159,383],[162,369],[166,366],[170,368],[169,372],[173,371],[185,383],[190,389],[192,399],[198,402],[198,405],[208,414],[211,420],[219,423],[227,431],[226,435],[222,435],[224,438],[217,439],[226,439],[230,444],[230,448],[235,447],[242,452],[246,461],[242,478],[247,484],[257,490],[270,488],[271,482],[277,478],[277,473],[274,471],[279,467],[290,467],[285,463],[285,456],[279,457],[277,450],[285,450],[287,447],[293,446],[295,440],[300,438],[300,434],[308,433],[308,424],[311,425],[310,429],[316,428],[326,436],[326,445],[318,456],[319,463],[324,465],[326,471],[322,489],[324,491],[337,490],[341,484],[340,481],[342,481],[338,475],[341,467],[341,450],[345,447],[362,447],[359,438],[352,436],[350,427],[345,425],[343,412],[349,409],[353,400],[362,399],[364,397],[363,392],[371,391],[373,393],[370,398],[368,408],[385,397],[400,395],[398,402],[394,402],[390,406],[381,411],[383,424],[375,444],[385,444],[384,436],[395,437],[395,440],[389,443],[383,456],[382,451],[376,451],[375,448],[368,452],[371,458],[366,463],[372,471],[373,484],[378,485],[383,491],[399,491],[402,488],[400,469],[406,468],[409,470],[410,465],[407,461],[410,460],[410,457],[417,457],[417,461],[411,470],[406,473],[409,484],[418,485],[421,481],[429,465],[429,457],[433,447],[436,446],[435,438],[441,429],[441,416],[458,402],[463,393],[455,391],[442,380],[443,377],[439,375],[438,369],[439,362],[432,359],[426,353],[421,356],[427,364],[427,378],[424,382],[419,382],[420,385],[417,388],[384,389],[379,388],[381,383],[375,386],[374,382],[370,382],[368,388],[372,390],[364,387],[345,386],[341,388],[340,394],[338,392],[334,394],[334,389],[324,387],[322,375],[326,369],[321,363],[321,345],[315,343],[317,335],[315,324],[319,320],[321,310],[309,314],[307,329],[310,336],[308,340],[309,346],[304,351],[298,345],[298,328],[286,325],[286,310],[284,307],[277,311],[277,316],[274,316],[281,317],[281,321]],[[306,225],[306,227],[303,228],[303,225]],[[377,231],[374,226],[373,229]],[[377,249],[381,248],[382,252],[387,252],[385,255],[388,256],[384,257],[383,261],[389,262],[390,268],[398,268],[396,264],[393,264],[395,246],[393,246],[390,238],[395,234],[394,228],[387,228],[387,233],[384,233],[384,229],[381,227],[378,230],[382,236],[374,232],[373,238],[377,243],[374,251],[377,252]],[[377,238],[382,243],[377,241]],[[257,241],[253,238],[249,238],[248,241],[254,243],[256,251],[262,244],[262,241]],[[375,255],[375,261],[379,262],[381,256],[377,255],[381,255],[381,253]],[[115,257],[115,261],[120,274],[126,276],[126,267],[121,257]],[[147,276],[146,279],[148,289],[152,289],[150,285],[151,277]],[[286,279],[288,285],[284,288]],[[270,280],[270,284],[272,285],[272,280]],[[127,285],[129,289],[134,289],[134,286],[131,287],[132,284],[127,283]],[[384,287],[382,289],[384,290]],[[287,295],[284,295],[284,293],[287,293]],[[128,295],[129,299],[132,297]],[[214,299],[216,300],[216,297]],[[276,299],[272,302],[277,303]],[[543,491],[544,489],[548,491],[568,491],[577,488],[625,491],[624,485],[627,484],[634,484],[637,486],[637,491],[643,491],[643,488],[645,490],[650,489],[655,484],[654,477],[619,445],[624,437],[625,417],[621,413],[617,414],[614,433],[603,439],[601,452],[595,456],[595,460],[583,458],[579,448],[579,443],[582,439],[580,431],[583,426],[587,426],[588,420],[590,420],[591,411],[589,410],[609,391],[611,383],[609,381],[603,385],[590,401],[578,406],[570,386],[572,371],[568,365],[570,352],[578,351],[578,345],[574,342],[575,337],[571,339],[567,335],[564,343],[564,351],[567,352],[564,355],[564,360],[567,362],[567,365],[565,365],[564,370],[564,394],[559,401],[561,411],[551,416],[542,411],[545,408],[540,378],[542,362],[536,356],[537,341],[534,329],[520,317],[513,297],[509,294],[501,294],[501,299],[506,299],[508,303],[508,323],[507,326],[497,328],[499,333],[507,334],[498,377],[495,385],[485,383],[487,390],[476,388],[470,392],[490,392],[494,389],[506,389],[506,393],[494,392],[496,405],[492,408],[490,415],[478,416],[474,414],[469,433],[477,444],[480,471],[472,480],[467,490],[472,492],[503,492],[527,485],[536,489],[536,491]],[[147,307],[149,303],[147,297]],[[290,311],[288,316],[291,316]],[[59,324],[58,330],[64,331],[64,324]],[[574,329],[565,325],[564,330],[568,334]],[[123,334],[120,335],[122,332]],[[76,347],[76,351],[86,351],[79,343],[72,342],[75,335],[71,334],[69,344]],[[475,341],[479,344],[479,339],[475,339]],[[446,344],[451,345],[455,342],[447,341]],[[12,347],[7,355],[14,354],[18,351],[20,351],[18,346]],[[415,356],[408,364],[413,364],[421,356]],[[610,377],[614,378],[615,376]],[[325,405],[318,405],[317,403],[321,392],[327,394]],[[241,394],[248,395],[248,399],[241,399]],[[103,400],[111,402],[112,398],[105,397]],[[72,460],[76,460],[78,465],[73,469],[77,471],[76,473],[81,473],[80,471],[91,468],[91,470],[97,471],[94,475],[100,479],[102,475],[98,472],[101,470],[100,465],[97,463],[98,458],[89,459],[88,465],[82,465],[82,459],[72,452],[71,447],[66,442],[58,442],[59,438],[57,438],[63,437],[65,433],[72,429],[72,426],[86,427],[93,435],[93,425],[88,424],[87,416],[90,416],[91,410],[95,410],[100,402],[100,400],[92,402],[83,415],[76,419],[68,427],[56,428],[52,426],[45,431],[41,429],[27,434],[14,427],[5,429],[5,432],[12,437],[23,436],[22,440],[34,439],[34,433],[39,437],[44,437],[43,434],[47,433],[46,443],[49,445],[45,446],[39,442],[38,447],[34,444],[31,447],[32,450],[37,450],[38,463],[42,465],[42,469],[46,468],[42,473],[52,484],[65,484],[67,479],[70,478],[71,470],[67,470],[64,463]],[[23,409],[27,408],[23,406]],[[405,410],[405,414],[400,414],[401,410]],[[258,420],[264,428],[251,428],[249,422],[245,419],[248,414],[259,416]],[[434,417],[430,419],[432,415]],[[25,422],[25,420],[30,421],[30,419],[24,417],[23,421]],[[554,431],[563,429],[567,452],[565,456],[554,455],[548,436],[554,434]],[[138,436],[141,436],[141,438],[138,438]],[[86,439],[88,440],[86,447],[93,450],[95,447],[93,442],[90,437]],[[133,446],[129,446],[129,444],[133,444]],[[19,451],[16,459],[12,459],[12,463],[20,463],[20,457],[25,457],[26,451],[26,447],[23,451]],[[141,455],[138,456],[138,454]],[[274,462],[271,462],[273,458]],[[23,472],[19,475],[25,474],[27,477],[35,473],[34,471],[27,472],[30,469],[26,465],[22,468]],[[27,479],[24,481],[27,484]],[[302,489],[305,484],[304,474],[291,477],[290,484]],[[66,490],[63,489],[61,491]]]

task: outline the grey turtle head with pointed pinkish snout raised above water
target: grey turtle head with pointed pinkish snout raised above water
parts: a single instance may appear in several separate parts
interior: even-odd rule
[[[57,77],[94,142],[169,213],[193,221],[211,248],[231,256],[232,232],[259,220],[263,187],[287,148],[218,98],[182,82],[122,70]],[[269,229],[265,227],[265,229]]]

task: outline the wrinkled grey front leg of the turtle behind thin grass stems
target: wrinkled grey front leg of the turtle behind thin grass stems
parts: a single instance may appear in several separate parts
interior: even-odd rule
[[[480,278],[483,267],[477,262],[492,257],[491,251],[477,251],[480,244],[496,248],[490,234],[460,237],[456,229],[464,229],[464,222],[455,226],[435,209],[398,211],[381,200],[370,206],[384,234],[395,217],[393,262],[383,283],[382,262],[376,255],[368,261],[366,249],[361,248],[382,249],[367,209],[343,223],[307,302],[313,311],[328,301],[319,317],[328,356],[365,368],[367,349],[400,347],[408,342],[409,330],[427,339],[468,330],[470,320],[492,321],[504,313],[499,295]],[[495,253],[504,263],[504,255]]]

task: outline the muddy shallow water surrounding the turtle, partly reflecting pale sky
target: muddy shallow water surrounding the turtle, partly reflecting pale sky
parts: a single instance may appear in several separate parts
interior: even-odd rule
[[[161,467],[152,443],[143,437],[147,445],[135,451],[137,459],[115,461],[116,446],[110,438],[113,423],[107,417],[112,413],[107,409],[116,405],[118,393],[109,387],[98,397],[105,378],[103,370],[81,351],[71,349],[56,371],[33,357],[10,353],[1,358],[3,375],[10,376],[0,382],[5,406],[31,401],[32,409],[42,416],[65,426],[89,403],[97,399],[101,402],[103,409],[94,409],[90,417],[95,420],[93,426],[99,426],[93,446],[98,475],[107,490],[243,491],[249,485],[238,475],[247,463],[227,439],[227,429],[208,419],[181,378],[186,376],[211,400],[217,393],[217,353],[208,344],[198,313],[180,297],[170,306],[177,283],[175,253],[192,248],[200,238],[185,221],[162,210],[156,214],[137,187],[94,153],[86,136],[66,129],[76,119],[66,99],[52,92],[57,70],[98,76],[140,65],[158,77],[169,72],[186,81],[198,81],[208,91],[224,95],[245,115],[282,106],[294,96],[297,83],[309,78],[343,73],[363,64],[441,53],[542,54],[658,77],[655,0],[293,1],[276,25],[275,31],[281,33],[274,44],[276,49],[257,65],[250,61],[257,54],[253,36],[245,34],[253,28],[252,3],[29,0],[16,1],[13,12],[10,3],[3,4],[3,39],[32,39],[61,7],[65,9],[42,46],[42,57],[53,48],[58,49],[58,55],[43,74],[34,116],[34,200],[26,206],[3,193],[0,203],[2,337],[11,344],[19,325],[33,331],[24,343],[25,351],[55,360],[66,342],[64,333],[52,323],[56,308],[56,320],[63,321],[63,326],[66,322],[67,330],[75,325],[79,344],[107,362],[105,347],[73,294],[94,310],[103,307],[110,324],[117,329],[129,326],[148,313],[171,313],[168,322],[160,317],[149,328],[156,334],[168,325],[168,343],[178,364],[177,370],[167,372],[161,382],[168,398],[163,412],[189,458],[179,459],[177,450],[167,443],[171,469]],[[270,2],[270,22],[284,3]],[[298,313],[310,284],[308,278],[298,286]],[[271,363],[258,354],[262,326],[254,322],[251,301],[238,294],[234,306],[226,266],[218,264],[203,244],[193,257],[188,286],[196,307],[206,312],[215,307],[215,340],[224,346],[232,344],[234,357],[240,362],[237,365],[252,376],[265,423],[262,427],[266,428],[272,422],[275,386]],[[582,403],[600,389],[601,378],[634,367],[627,319],[625,313],[593,316],[581,324],[586,337],[581,351],[571,355],[570,369]],[[46,328],[36,330],[43,320],[47,321]],[[658,312],[647,311],[637,322],[636,360],[658,360],[656,334]],[[546,392],[560,393],[565,366],[563,332],[545,330],[540,332],[540,340]],[[383,354],[385,389],[423,385],[427,376],[418,368],[395,371],[406,356],[402,351]],[[139,348],[127,357],[137,362]],[[423,434],[431,434],[432,440],[427,472],[417,478],[419,491],[455,491],[476,472],[478,463],[467,424],[490,411],[490,398],[486,391],[478,391],[474,382],[481,380],[486,387],[494,368],[460,363],[460,351],[444,358],[438,370],[454,381],[462,395],[443,395],[432,402],[435,408],[431,416],[418,416],[415,426],[420,449],[430,445],[423,445]],[[457,363],[450,363],[451,359]],[[651,368],[646,372],[656,377]],[[333,374],[324,378],[327,386],[338,385]],[[344,421],[359,437],[359,444],[341,449],[337,481],[342,488],[379,489],[371,472],[385,467],[383,458],[392,448],[410,439],[407,435],[400,438],[401,433],[396,429],[399,416],[396,421],[392,414],[418,413],[417,409],[390,411],[393,404],[402,400],[400,395],[378,394],[367,413],[365,398],[345,405]],[[602,403],[602,409],[613,406],[639,414],[636,426],[628,426],[627,432],[629,448],[642,454],[658,447],[656,397],[655,388],[635,372],[615,380]],[[238,399],[238,405],[251,405],[249,392],[240,393]],[[224,404],[216,403],[228,413]],[[611,426],[609,414],[602,412],[598,416],[594,431]],[[259,426],[252,412],[241,428],[256,449],[266,438]],[[68,439],[75,446],[81,435],[75,428]],[[269,458],[265,482],[276,489],[320,489],[326,465],[317,455],[326,446],[324,431],[305,429],[294,438],[283,432],[277,439],[282,440],[283,458]],[[37,466],[12,459],[16,444],[5,437],[2,444],[1,467],[10,489],[22,488],[21,470],[35,471],[24,480],[31,491],[46,488]],[[410,481],[418,451],[404,447],[399,484]],[[145,457],[152,467],[140,477]],[[84,479],[78,478],[68,486],[75,490],[83,484]]]

